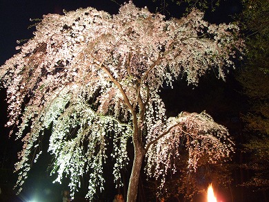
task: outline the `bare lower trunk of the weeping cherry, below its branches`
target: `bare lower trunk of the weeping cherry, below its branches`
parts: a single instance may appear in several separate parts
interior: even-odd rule
[[[135,158],[132,164],[132,173],[130,176],[127,202],[137,201],[137,190],[139,184],[139,175],[141,171],[143,157],[145,156],[143,147],[135,147]]]

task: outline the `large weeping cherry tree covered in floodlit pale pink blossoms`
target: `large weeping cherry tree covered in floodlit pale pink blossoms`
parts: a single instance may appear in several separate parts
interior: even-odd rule
[[[135,158],[128,201],[136,200],[143,160],[145,172],[162,179],[161,187],[168,169],[176,169],[172,159],[182,143],[192,169],[205,152],[210,162],[228,157],[232,141],[225,127],[205,112],[167,118],[158,92],[181,75],[197,84],[212,68],[224,79],[243,46],[238,32],[235,24],[208,24],[199,10],[165,20],[132,2],[112,16],[94,8],[45,15],[34,37],[0,68],[9,104],[7,126],[17,126],[23,141],[15,165],[17,187],[40,155],[46,129],[55,181],[68,176],[73,196],[87,173],[90,200],[103,190],[108,155],[115,160],[114,180],[121,178],[130,141]],[[112,154],[106,152],[108,136]]]

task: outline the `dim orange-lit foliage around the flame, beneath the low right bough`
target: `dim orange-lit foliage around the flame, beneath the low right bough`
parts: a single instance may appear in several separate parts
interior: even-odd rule
[[[209,183],[226,187],[231,182],[228,163],[208,163],[208,156],[205,154],[199,158],[197,169],[194,172],[188,167],[188,150],[183,144],[179,159],[174,162],[177,172],[168,172],[162,190],[159,190],[158,187],[160,180],[156,181],[155,178],[150,178],[143,181],[146,193],[152,193],[150,196],[153,199],[156,198],[157,194],[166,199],[178,197],[184,201],[194,201],[198,194],[204,193]]]

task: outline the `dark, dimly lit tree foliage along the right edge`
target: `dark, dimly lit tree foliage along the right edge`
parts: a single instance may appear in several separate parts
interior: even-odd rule
[[[242,114],[245,122],[245,152],[249,155],[247,169],[255,172],[243,183],[253,190],[268,190],[269,154],[269,2],[266,0],[243,1],[239,16],[246,36],[246,61],[238,76],[243,93],[248,96],[249,108]]]

